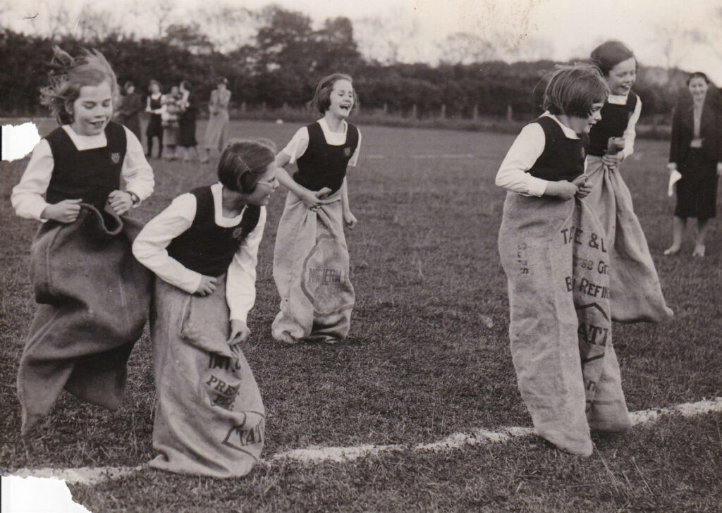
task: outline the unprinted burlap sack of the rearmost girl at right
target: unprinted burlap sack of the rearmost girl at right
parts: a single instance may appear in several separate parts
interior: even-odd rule
[[[587,175],[591,193],[583,201],[599,216],[612,263],[612,319],[658,323],[671,318],[627,184],[619,171],[610,171],[593,155],[587,159]]]

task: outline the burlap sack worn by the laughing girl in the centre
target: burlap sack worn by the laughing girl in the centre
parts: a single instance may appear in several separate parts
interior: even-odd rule
[[[271,333],[279,341],[333,342],[349,333],[356,297],[340,198],[339,190],[314,212],[288,193],[274,248],[281,306]]]

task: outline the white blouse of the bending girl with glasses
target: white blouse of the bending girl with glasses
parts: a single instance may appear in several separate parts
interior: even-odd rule
[[[243,211],[233,218],[223,216],[222,204],[223,185],[211,185],[213,194],[214,218],[219,227],[238,226]],[[201,273],[191,271],[175,258],[168,255],[166,249],[170,242],[185,232],[193,224],[196,216],[196,196],[191,193],[181,194],[160,214],[151,219],[133,242],[133,255],[140,263],[153,271],[160,279],[178,289],[193,294],[201,283]],[[266,207],[261,207],[256,228],[241,242],[238,251],[233,255],[226,276],[226,301],[233,320],[247,320],[248,312],[256,302],[256,263],[258,262],[258,245],[264,236],[266,224]]]

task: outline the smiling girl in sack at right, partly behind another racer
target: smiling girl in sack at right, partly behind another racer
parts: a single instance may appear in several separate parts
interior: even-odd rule
[[[612,319],[654,322],[671,318],[647,239],[632,206],[632,195],[619,165],[634,151],[635,125],[642,102],[632,91],[637,59],[624,43],[609,40],[591,53],[609,95],[601,120],[589,131],[588,170],[591,193],[584,200],[599,216],[609,247]]]

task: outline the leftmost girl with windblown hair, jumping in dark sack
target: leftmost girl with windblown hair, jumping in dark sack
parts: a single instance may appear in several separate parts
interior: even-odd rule
[[[11,196],[18,216],[43,223],[30,256],[38,311],[17,374],[23,434],[63,388],[118,408],[150,299],[150,273],[131,255],[142,224],[125,214],[150,196],[153,173],[134,133],[110,121],[116,75],[97,51],[53,51],[40,92],[61,126],[32,150]]]

